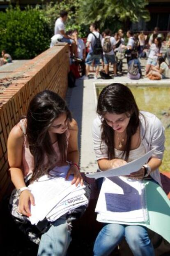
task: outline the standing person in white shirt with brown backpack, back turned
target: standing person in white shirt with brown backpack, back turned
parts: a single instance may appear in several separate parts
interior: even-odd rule
[[[109,63],[113,64],[114,75],[117,75],[117,65],[115,60],[114,49],[116,46],[115,37],[110,36],[110,29],[105,30],[105,38],[102,39],[101,45],[103,47],[103,60],[104,60],[104,70],[105,73],[109,72]]]

